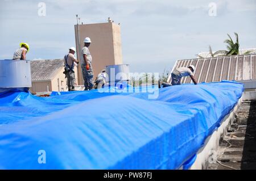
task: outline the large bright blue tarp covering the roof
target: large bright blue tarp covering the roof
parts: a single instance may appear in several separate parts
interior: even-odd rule
[[[0,169],[187,169],[242,92],[228,81],[166,87],[155,99],[152,92],[2,92]]]

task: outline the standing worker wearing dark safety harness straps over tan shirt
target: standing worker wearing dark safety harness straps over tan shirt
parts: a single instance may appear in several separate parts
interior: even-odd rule
[[[74,91],[75,90],[75,63],[79,64],[79,61],[76,60],[74,54],[76,52],[75,47],[69,48],[69,53],[64,56],[64,66],[65,66],[65,78],[67,78],[67,85],[68,85],[68,91]]]

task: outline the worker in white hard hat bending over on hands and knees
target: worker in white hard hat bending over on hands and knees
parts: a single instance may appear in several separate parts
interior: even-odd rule
[[[194,77],[194,71],[195,71],[195,66],[189,65],[188,68],[181,67],[177,68],[174,71],[172,71],[171,77],[172,77],[172,82],[167,83],[167,82],[162,82],[159,81],[158,86],[159,88],[163,87],[168,87],[168,86],[175,86],[175,85],[180,85],[180,80],[182,77],[189,76],[193,83],[197,85],[196,79]]]

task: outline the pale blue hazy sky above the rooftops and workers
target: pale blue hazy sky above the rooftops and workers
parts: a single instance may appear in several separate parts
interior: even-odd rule
[[[40,2],[46,5],[42,16]],[[123,63],[130,71],[162,73],[176,60],[226,49],[227,33],[240,48],[256,47],[256,0],[0,0],[0,60],[20,42],[28,60],[62,58],[75,47],[76,14],[84,24],[121,23]],[[215,8],[216,7],[216,8]]]

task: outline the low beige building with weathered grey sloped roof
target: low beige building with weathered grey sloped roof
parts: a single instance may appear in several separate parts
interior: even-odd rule
[[[67,78],[65,78],[64,60],[36,60],[31,61],[31,81],[34,92],[67,91]],[[77,82],[77,67],[75,66]]]

